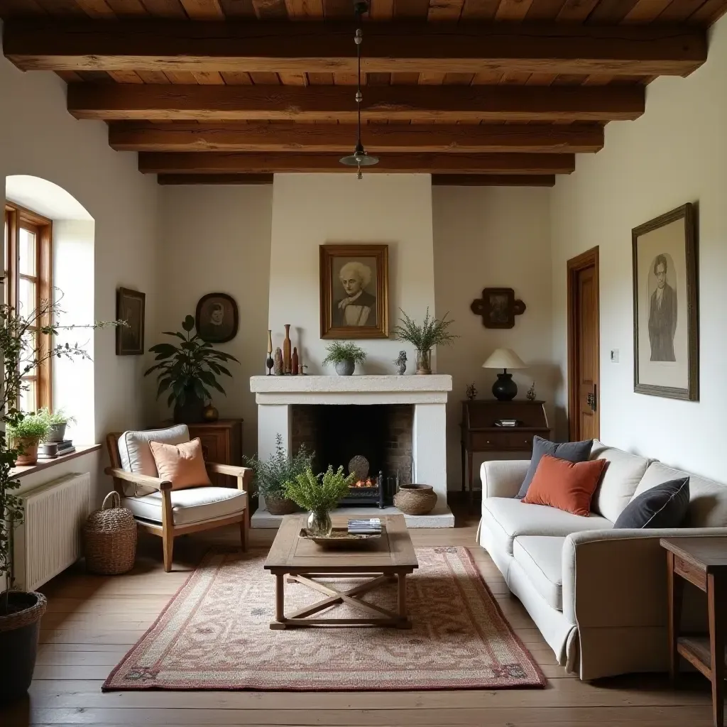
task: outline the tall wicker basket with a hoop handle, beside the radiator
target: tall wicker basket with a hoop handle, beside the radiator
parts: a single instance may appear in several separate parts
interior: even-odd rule
[[[84,526],[86,568],[104,576],[130,571],[136,558],[136,541],[134,515],[121,507],[118,492],[109,492],[101,509],[94,510]]]

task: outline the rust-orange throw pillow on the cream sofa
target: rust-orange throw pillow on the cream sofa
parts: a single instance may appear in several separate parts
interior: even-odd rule
[[[566,513],[587,517],[603,467],[606,467],[605,459],[568,462],[566,459],[553,457],[552,454],[545,454],[535,470],[523,502],[557,507]]]

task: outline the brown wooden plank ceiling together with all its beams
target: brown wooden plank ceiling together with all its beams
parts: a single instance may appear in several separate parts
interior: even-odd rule
[[[656,76],[707,57],[727,0],[371,0],[369,172],[553,185]],[[4,53],[161,184],[342,172],[356,142],[353,0],[2,0]],[[293,22],[305,20],[307,22]]]

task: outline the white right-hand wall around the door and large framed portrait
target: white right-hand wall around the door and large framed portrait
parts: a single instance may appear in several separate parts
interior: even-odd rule
[[[707,63],[649,85],[646,113],[606,126],[606,147],[582,155],[553,193],[553,350],[566,401],[566,260],[601,256],[601,438],[726,480],[727,20],[712,28]],[[633,392],[631,229],[674,207],[699,207],[701,401]],[[619,363],[609,351],[619,349]]]

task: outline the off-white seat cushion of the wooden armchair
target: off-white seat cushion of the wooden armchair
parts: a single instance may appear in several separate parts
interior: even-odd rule
[[[247,505],[247,493],[231,487],[172,490],[170,496],[174,525],[190,525],[231,517],[243,513]],[[161,523],[161,492],[154,491],[143,497],[124,497],[122,502],[135,518]]]

